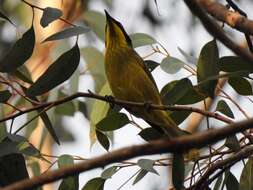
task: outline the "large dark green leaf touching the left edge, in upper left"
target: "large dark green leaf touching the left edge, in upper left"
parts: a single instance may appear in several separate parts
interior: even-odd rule
[[[11,48],[11,50],[0,61],[0,72],[14,72],[23,65],[32,55],[35,44],[35,33],[33,26],[24,33]]]

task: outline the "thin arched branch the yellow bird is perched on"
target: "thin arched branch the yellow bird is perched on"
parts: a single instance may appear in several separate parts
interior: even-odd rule
[[[41,103],[39,105],[36,105],[32,108],[26,109],[26,110],[22,110],[16,114],[7,116],[5,118],[0,119],[0,123],[10,120],[10,119],[15,119],[18,116],[21,116],[25,113],[29,113],[38,109],[44,109],[47,108],[49,106],[54,107],[63,103],[66,103],[68,101],[72,101],[73,99],[76,98],[80,98],[80,97],[85,97],[85,98],[94,98],[97,100],[101,100],[101,101],[105,101],[111,104],[117,104],[119,106],[122,106],[124,108],[127,107],[143,107],[146,108],[147,105],[145,102],[130,102],[130,101],[124,101],[124,100],[118,100],[118,99],[114,99],[114,98],[107,98],[105,96],[100,96],[97,94],[93,94],[93,93],[85,93],[85,92],[78,92],[76,94],[70,95],[66,98],[57,100],[57,101],[53,101],[53,102],[46,102],[46,103]],[[177,105],[177,106],[164,106],[164,105],[156,105],[156,104],[150,104],[149,105],[149,109],[153,109],[153,110],[170,110],[170,111],[190,111],[190,112],[196,112],[199,114],[203,114],[205,116],[208,117],[212,117],[215,118],[217,120],[223,121],[227,124],[231,124],[233,123],[233,121],[229,118],[223,117],[222,115],[218,114],[218,113],[213,113],[213,112],[209,112],[209,111],[205,111],[199,108],[195,108],[195,107],[189,107],[189,106],[181,106],[181,105]]]

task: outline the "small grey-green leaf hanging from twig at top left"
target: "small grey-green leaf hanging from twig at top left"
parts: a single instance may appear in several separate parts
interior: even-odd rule
[[[45,28],[47,27],[51,22],[57,20],[62,16],[62,11],[60,9],[52,8],[52,7],[46,7],[43,10],[42,17],[40,19],[40,25]]]

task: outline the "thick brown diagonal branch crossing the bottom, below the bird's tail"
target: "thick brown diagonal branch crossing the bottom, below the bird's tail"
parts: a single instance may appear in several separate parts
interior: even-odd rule
[[[208,144],[215,143],[235,133],[249,129],[253,125],[253,119],[238,122],[222,129],[213,129],[194,135],[187,135],[172,140],[156,140],[143,145],[135,145],[122,148],[93,159],[80,162],[73,166],[49,171],[35,176],[31,179],[25,179],[9,185],[1,190],[25,190],[39,187],[68,176],[82,173],[95,168],[134,158],[143,155],[161,154],[161,153],[178,153],[187,151],[192,148],[201,148]]]

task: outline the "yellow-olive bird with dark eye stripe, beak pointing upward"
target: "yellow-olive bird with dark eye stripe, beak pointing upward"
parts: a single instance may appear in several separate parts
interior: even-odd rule
[[[133,49],[131,39],[122,24],[106,11],[105,72],[113,95],[121,100],[162,105],[156,83],[143,59]],[[177,137],[182,131],[163,110],[131,107],[127,110]]]

